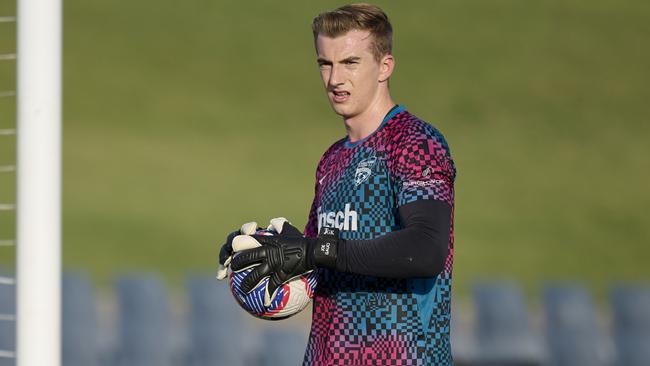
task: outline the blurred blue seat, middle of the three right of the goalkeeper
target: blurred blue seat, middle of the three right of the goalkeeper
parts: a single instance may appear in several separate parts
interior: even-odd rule
[[[551,366],[612,364],[611,346],[583,287],[550,285],[543,292],[543,305]]]

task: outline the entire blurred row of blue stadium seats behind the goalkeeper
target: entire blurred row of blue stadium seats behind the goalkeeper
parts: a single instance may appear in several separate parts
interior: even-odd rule
[[[102,304],[104,312],[100,312],[89,279],[84,274],[66,273],[62,282],[62,364],[276,366],[302,363],[307,324],[255,321],[235,304],[228,287],[213,276],[191,276],[185,287],[187,301],[176,296],[172,307],[158,277],[123,276],[115,282],[117,301]],[[541,298],[542,316],[533,321],[513,283],[484,282],[475,286],[474,316],[469,315],[471,311],[466,306],[469,304],[464,304],[462,311],[455,312],[452,322],[455,364],[650,365],[650,288],[627,285],[613,289],[611,332],[603,326],[608,324],[609,314],[597,311],[589,293],[580,285],[547,285]],[[107,314],[107,308],[114,309]],[[0,285],[0,314],[14,312],[14,286]],[[100,326],[113,323],[110,329]],[[0,320],[0,350],[15,350],[14,331],[15,323],[10,317]],[[98,336],[106,333],[115,340],[108,349],[100,347]],[[15,360],[0,357],[0,366],[15,366]]]

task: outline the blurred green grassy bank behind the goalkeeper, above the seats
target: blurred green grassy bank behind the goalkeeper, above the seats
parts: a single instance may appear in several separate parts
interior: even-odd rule
[[[514,281],[534,317],[546,284],[570,281],[607,324],[611,289],[650,278],[650,4],[376,3],[395,28],[393,96],[445,134],[458,168],[456,315],[477,282]],[[338,5],[65,1],[63,259],[100,310],[142,272],[187,306],[188,274],[214,272],[226,233],[304,225],[318,159],[344,134],[310,32]],[[0,23],[0,53],[14,26]],[[14,69],[0,61],[0,90]],[[0,98],[0,129],[14,103]],[[0,136],[0,165],[14,159]],[[0,202],[14,179],[0,174]],[[14,225],[0,211],[0,240]]]

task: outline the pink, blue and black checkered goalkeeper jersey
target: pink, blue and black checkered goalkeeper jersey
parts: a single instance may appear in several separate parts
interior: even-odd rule
[[[397,209],[416,200],[451,206],[444,269],[391,279],[319,269],[304,365],[452,365],[450,348],[456,170],[442,134],[393,108],[363,140],[334,143],[316,171],[305,235],[322,227],[345,240],[400,230]]]

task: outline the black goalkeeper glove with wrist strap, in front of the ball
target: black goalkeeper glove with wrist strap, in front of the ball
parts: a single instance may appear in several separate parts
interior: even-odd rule
[[[239,235],[233,239],[233,271],[255,267],[242,281],[241,289],[249,292],[268,277],[265,305],[270,305],[275,291],[292,278],[316,267],[336,266],[338,230],[326,229],[326,235],[307,238],[284,218],[271,220],[269,230],[278,235]]]

